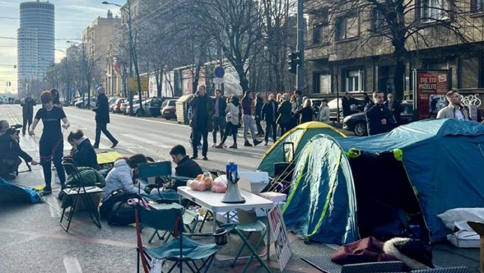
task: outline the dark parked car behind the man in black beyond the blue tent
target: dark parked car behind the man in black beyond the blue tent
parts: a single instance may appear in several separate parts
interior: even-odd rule
[[[412,101],[403,101],[401,105],[401,124],[413,122],[414,117]],[[357,136],[368,135],[368,127],[366,126],[366,117],[364,113],[356,113],[345,117],[343,121],[343,129],[353,131]]]

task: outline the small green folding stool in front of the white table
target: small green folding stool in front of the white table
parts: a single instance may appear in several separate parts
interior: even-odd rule
[[[264,260],[262,260],[262,258],[259,256],[259,254],[257,254],[257,251],[261,247],[262,242],[264,242],[264,238],[266,238],[266,234],[267,234],[266,224],[257,220],[256,222],[250,223],[250,224],[236,224],[234,230],[236,231],[237,234],[239,234],[240,238],[243,241],[243,245],[242,245],[241,249],[239,250],[239,253],[237,253],[237,255],[235,256],[234,262],[232,263],[232,267],[234,267],[237,260],[239,260],[239,257],[241,256],[243,249],[245,247],[247,247],[250,250],[251,254],[250,254],[247,262],[245,263],[245,266],[243,267],[242,273],[245,273],[245,271],[248,269],[248,266],[250,265],[250,262],[252,262],[252,258],[254,258],[254,257],[259,261],[259,263],[262,265],[262,267],[264,267],[264,269],[268,273],[271,273],[272,271],[269,269],[269,267],[266,265],[266,263],[264,263]],[[244,232],[248,232],[247,237],[245,237]],[[254,232],[260,232],[261,237],[255,243],[255,245],[252,246],[252,245],[250,245],[250,235],[252,235],[252,233],[254,233]],[[267,255],[269,255],[269,254],[267,254]]]

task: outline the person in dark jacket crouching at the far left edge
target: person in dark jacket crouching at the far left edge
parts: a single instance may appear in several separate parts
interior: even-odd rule
[[[20,158],[32,165],[37,165],[29,154],[22,151],[19,145],[19,134],[13,129],[7,129],[0,135],[0,176],[7,180],[15,179],[15,171],[22,163]]]

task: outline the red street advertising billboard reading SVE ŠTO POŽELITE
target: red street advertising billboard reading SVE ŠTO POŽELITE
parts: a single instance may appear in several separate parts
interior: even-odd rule
[[[414,108],[417,119],[437,117],[446,106],[450,90],[449,70],[414,70]]]

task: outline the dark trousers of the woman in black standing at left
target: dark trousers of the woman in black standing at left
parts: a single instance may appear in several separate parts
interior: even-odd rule
[[[57,175],[63,186],[65,183],[64,166],[62,165],[62,157],[64,150],[63,135],[58,137],[41,137],[39,143],[40,165],[44,170],[45,189],[51,190],[52,170],[51,161],[54,161]]]

